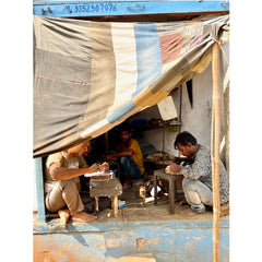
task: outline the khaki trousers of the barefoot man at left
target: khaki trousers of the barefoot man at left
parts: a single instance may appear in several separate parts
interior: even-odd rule
[[[68,207],[69,211],[83,211],[84,204],[79,194],[79,179],[70,179],[67,181],[58,180],[53,189],[46,195],[46,207],[50,212],[57,212]]]

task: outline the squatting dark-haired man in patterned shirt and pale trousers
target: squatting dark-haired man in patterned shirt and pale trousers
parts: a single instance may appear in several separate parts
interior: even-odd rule
[[[211,151],[198,144],[196,139],[189,132],[179,133],[174,146],[192,160],[186,166],[170,164],[170,169],[174,172],[184,176],[182,188],[191,209],[186,210],[182,214],[203,213],[205,205],[213,205]],[[222,162],[219,164],[219,193],[221,204],[226,203],[229,200],[228,181]]]

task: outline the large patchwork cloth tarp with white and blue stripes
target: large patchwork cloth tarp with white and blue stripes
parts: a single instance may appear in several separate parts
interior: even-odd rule
[[[203,72],[228,15],[166,23],[34,16],[34,157],[96,138]]]

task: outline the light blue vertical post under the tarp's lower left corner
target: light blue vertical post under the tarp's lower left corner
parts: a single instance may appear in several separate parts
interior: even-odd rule
[[[37,198],[37,219],[45,222],[45,193],[44,193],[44,178],[41,158],[35,158],[35,174],[36,174],[36,198]]]

